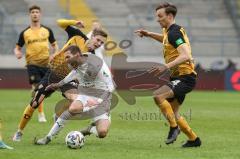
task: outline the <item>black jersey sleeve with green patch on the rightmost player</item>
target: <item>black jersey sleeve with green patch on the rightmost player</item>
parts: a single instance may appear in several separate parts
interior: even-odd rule
[[[173,30],[169,32],[168,41],[174,48],[186,43],[180,30]]]

